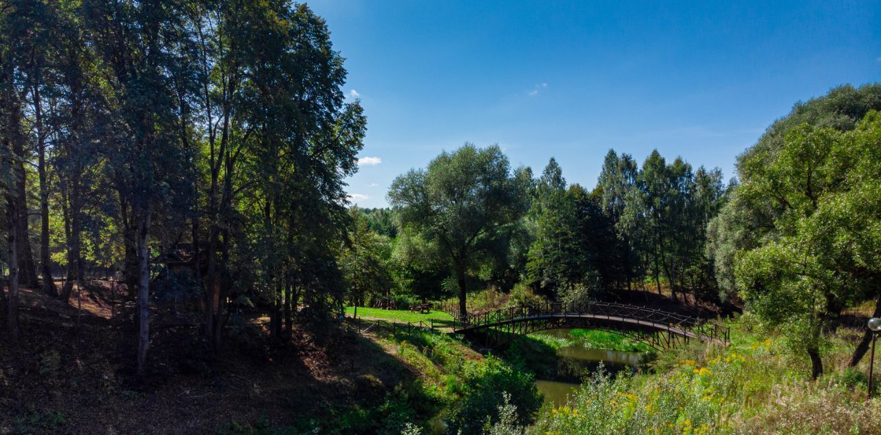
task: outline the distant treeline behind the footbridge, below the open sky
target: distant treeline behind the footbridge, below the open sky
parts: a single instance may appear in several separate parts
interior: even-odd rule
[[[451,164],[433,163],[428,171],[461,174],[456,162],[465,165],[469,154],[491,154],[483,161],[507,166],[498,148],[466,145],[448,154]],[[640,167],[630,155],[609,151],[592,190],[567,185],[555,159],[538,177],[529,168],[494,171],[497,180],[478,175],[490,169],[472,172],[470,180],[456,177],[455,184],[438,187],[436,198],[406,194],[432,190],[426,182],[432,174],[404,175],[389,194],[395,208],[360,209],[366,229],[389,244],[377,251],[389,253],[384,275],[396,279],[377,289],[442,298],[461,290],[448,270],[463,269],[466,287],[525,284],[551,299],[572,292],[612,296],[647,285],[660,292],[662,282],[674,298],[691,292],[717,299],[704,251],[707,223],[726,197],[720,170],[693,170],[678,158],[667,164],[657,151]],[[508,191],[492,191],[500,186]],[[504,216],[492,216],[499,210]],[[469,240],[461,232],[477,236]]]

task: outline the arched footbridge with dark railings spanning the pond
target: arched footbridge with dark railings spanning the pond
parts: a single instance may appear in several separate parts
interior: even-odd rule
[[[468,316],[459,315],[455,308],[444,308],[453,315],[452,328],[456,333],[468,335],[472,343],[483,342],[486,348],[507,343],[516,335],[559,328],[609,331],[657,350],[670,349],[689,340],[725,345],[730,337],[730,328],[712,322],[645,306],[611,302],[544,303]]]

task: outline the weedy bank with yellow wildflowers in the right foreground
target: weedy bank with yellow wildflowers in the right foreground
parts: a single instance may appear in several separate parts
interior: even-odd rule
[[[566,406],[544,408],[529,433],[874,433],[874,399],[837,382],[804,382],[778,349],[742,331],[727,349],[671,353],[656,373],[597,372]],[[847,375],[842,373],[843,375]]]

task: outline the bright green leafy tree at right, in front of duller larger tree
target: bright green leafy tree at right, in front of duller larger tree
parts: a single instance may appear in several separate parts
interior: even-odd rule
[[[751,310],[811,355],[815,376],[823,372],[829,319],[877,295],[879,141],[881,117],[870,112],[847,132],[803,123],[775,139],[774,149],[760,142],[738,162],[736,200],[717,220],[717,229],[740,231],[728,238],[739,244],[718,244],[717,269],[729,269],[734,257]],[[743,219],[755,215],[766,225],[744,240],[755,221]]]

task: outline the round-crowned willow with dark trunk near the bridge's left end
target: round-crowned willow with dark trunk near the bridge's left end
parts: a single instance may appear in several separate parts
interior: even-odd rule
[[[442,152],[426,169],[395,179],[389,202],[405,228],[437,244],[452,264],[459,291],[459,311],[467,316],[467,276],[481,254],[522,217],[529,203],[529,175],[512,171],[496,146],[465,144]]]

